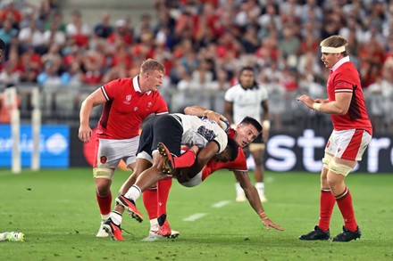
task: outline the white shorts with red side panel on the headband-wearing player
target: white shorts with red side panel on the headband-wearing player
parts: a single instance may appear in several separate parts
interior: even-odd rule
[[[371,140],[372,135],[361,129],[333,130],[325,152],[339,159],[360,161]]]

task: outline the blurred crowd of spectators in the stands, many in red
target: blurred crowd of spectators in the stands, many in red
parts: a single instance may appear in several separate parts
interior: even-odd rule
[[[272,127],[280,130],[286,111],[318,120],[295,97],[325,96],[329,71],[319,43],[341,35],[351,46],[375,131],[393,131],[389,0],[155,0],[154,18],[141,14],[135,23],[103,12],[95,24],[79,10],[65,22],[58,2],[0,2],[7,50],[1,84],[100,86],[137,75],[141,62],[154,58],[166,69],[163,90],[212,93],[230,88],[248,65],[269,91]]]

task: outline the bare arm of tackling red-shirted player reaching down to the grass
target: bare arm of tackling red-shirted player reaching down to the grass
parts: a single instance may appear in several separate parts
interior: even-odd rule
[[[261,200],[259,199],[258,192],[255,189],[255,186],[251,183],[250,178],[248,176],[247,171],[233,171],[238,183],[244,190],[247,200],[250,203],[251,207],[254,208],[256,214],[261,218],[263,225],[269,229],[270,227],[275,228],[277,230],[284,230],[280,227],[280,225],[275,224],[272,220],[264,212]]]

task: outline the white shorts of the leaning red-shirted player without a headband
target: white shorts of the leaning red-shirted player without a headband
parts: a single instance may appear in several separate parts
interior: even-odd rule
[[[139,136],[125,140],[98,139],[93,167],[115,169],[121,159],[129,166],[137,159],[138,145]]]

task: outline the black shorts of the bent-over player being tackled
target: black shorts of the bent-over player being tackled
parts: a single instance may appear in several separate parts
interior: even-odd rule
[[[169,114],[150,118],[140,134],[138,152],[145,151],[153,156],[158,143],[163,143],[171,153],[180,156],[183,126]]]

